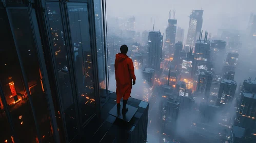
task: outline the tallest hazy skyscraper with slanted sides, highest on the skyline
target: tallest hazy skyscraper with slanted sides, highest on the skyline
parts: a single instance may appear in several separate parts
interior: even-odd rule
[[[186,45],[194,46],[203,26],[203,10],[193,10],[189,16],[189,27]]]

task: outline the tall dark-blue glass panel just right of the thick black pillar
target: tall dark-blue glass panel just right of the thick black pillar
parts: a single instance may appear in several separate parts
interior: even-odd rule
[[[61,10],[58,3],[47,3],[47,11],[53,42],[53,55],[57,68],[59,90],[61,92],[62,108],[65,113],[66,128],[69,141],[77,134],[74,101],[72,96],[69,66],[67,61],[67,46],[62,25]],[[60,120],[57,118],[57,120]],[[61,126],[61,125],[60,125]]]

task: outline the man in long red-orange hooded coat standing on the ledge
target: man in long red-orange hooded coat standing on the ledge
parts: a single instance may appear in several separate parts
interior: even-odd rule
[[[116,81],[116,103],[120,109],[120,100],[123,98],[122,113],[126,113],[126,104],[131,94],[132,85],[135,84],[134,67],[132,60],[126,55],[127,45],[120,47],[121,53],[115,55],[115,81]]]

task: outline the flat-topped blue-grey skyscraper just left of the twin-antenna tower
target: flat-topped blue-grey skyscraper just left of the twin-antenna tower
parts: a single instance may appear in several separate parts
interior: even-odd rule
[[[150,31],[148,34],[148,67],[160,70],[162,60],[163,36],[161,32]]]

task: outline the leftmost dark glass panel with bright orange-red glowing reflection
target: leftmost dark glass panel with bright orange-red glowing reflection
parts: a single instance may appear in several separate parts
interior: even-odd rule
[[[6,17],[2,17],[2,13],[4,12],[0,11],[0,20],[2,20],[0,22],[0,39],[5,42],[2,42],[0,46],[0,82],[19,141],[36,142],[35,124],[27,94],[24,90],[21,66],[19,65],[11,31],[8,27],[9,23]],[[15,33],[21,34],[17,31]],[[3,129],[6,130],[6,128]]]

